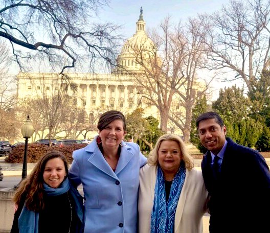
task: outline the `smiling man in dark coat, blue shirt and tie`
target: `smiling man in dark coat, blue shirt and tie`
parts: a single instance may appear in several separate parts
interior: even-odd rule
[[[263,156],[226,137],[216,112],[199,115],[196,127],[208,149],[201,170],[210,194],[210,233],[270,232],[270,172]]]

